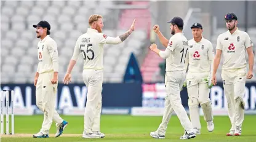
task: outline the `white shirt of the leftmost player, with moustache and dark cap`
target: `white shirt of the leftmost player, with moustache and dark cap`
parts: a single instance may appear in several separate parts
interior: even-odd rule
[[[57,44],[47,35],[38,42],[38,73],[58,72]]]

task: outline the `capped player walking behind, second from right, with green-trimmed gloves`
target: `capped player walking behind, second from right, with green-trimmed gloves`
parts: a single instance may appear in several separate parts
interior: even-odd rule
[[[214,130],[214,117],[212,116],[212,105],[209,98],[212,82],[212,65],[214,62],[214,50],[212,43],[202,37],[202,25],[194,23],[191,26],[193,39],[188,41],[188,56],[185,60],[186,88],[188,91],[188,107],[190,108],[190,120],[194,132],[201,133],[199,117],[199,104],[204,112],[204,120],[207,122],[209,132]],[[189,66],[188,66],[189,65]]]

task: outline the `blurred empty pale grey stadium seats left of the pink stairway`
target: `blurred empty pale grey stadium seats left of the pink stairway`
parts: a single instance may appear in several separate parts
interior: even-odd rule
[[[129,29],[124,25],[113,28],[113,23],[118,25],[127,20],[127,17],[121,17],[119,22],[119,17],[115,16],[119,12],[125,13],[125,10],[112,10],[115,6],[114,1],[1,1],[1,83],[33,82],[38,65],[36,47],[39,39],[32,25],[41,20],[50,23],[50,36],[57,42],[59,81],[62,81],[76,39],[87,31],[89,15],[102,14],[105,21],[110,19],[111,22],[104,23],[103,28],[103,33],[108,36],[115,37]],[[130,19],[133,17],[129,15],[129,23],[126,25],[130,26]],[[146,38],[145,28],[137,28],[137,32],[124,43],[105,46],[105,82],[122,82],[130,53],[138,55]],[[83,82],[82,66],[83,60],[80,57],[73,69],[73,82]]]

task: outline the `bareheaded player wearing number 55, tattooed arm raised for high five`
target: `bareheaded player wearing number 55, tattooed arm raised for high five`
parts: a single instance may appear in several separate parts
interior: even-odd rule
[[[82,78],[88,88],[87,103],[84,112],[84,132],[82,138],[103,138],[100,132],[100,112],[102,110],[102,83],[103,83],[103,45],[119,44],[127,39],[134,31],[134,22],[130,29],[118,36],[108,37],[102,33],[103,20],[101,15],[91,15],[87,33],[78,37],[74,46],[73,57],[68,65],[68,71],[64,77],[64,84],[71,81],[71,71],[82,53],[84,59],[84,71]]]

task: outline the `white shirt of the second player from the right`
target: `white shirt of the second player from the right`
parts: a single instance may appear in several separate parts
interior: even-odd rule
[[[212,43],[202,37],[199,42],[194,41],[194,38],[190,39],[188,45],[188,72],[210,72],[210,61],[214,60]]]

